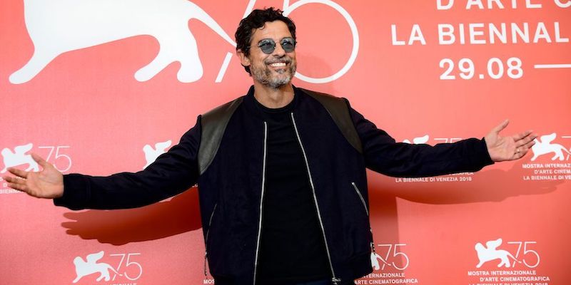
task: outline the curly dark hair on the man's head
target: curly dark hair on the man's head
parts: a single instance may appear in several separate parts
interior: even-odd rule
[[[252,41],[252,34],[256,28],[263,27],[266,22],[283,21],[288,25],[291,36],[295,40],[295,24],[286,16],[283,16],[283,11],[273,7],[267,9],[255,9],[246,18],[240,21],[238,29],[236,29],[236,51],[240,50],[245,56],[250,55],[250,45]],[[252,74],[249,66],[244,66],[246,72]]]

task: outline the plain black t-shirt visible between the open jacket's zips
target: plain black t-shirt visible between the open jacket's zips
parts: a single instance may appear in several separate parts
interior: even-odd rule
[[[268,124],[258,284],[329,279],[323,232],[303,152],[293,128],[294,100],[283,108],[260,103]]]

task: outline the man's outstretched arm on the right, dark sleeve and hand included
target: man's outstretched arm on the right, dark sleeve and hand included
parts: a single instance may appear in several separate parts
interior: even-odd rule
[[[394,177],[427,177],[455,172],[475,172],[485,165],[523,157],[537,135],[531,130],[503,137],[507,120],[493,128],[483,140],[470,138],[438,145],[395,142],[385,131],[350,108],[350,115],[363,143],[365,165]]]

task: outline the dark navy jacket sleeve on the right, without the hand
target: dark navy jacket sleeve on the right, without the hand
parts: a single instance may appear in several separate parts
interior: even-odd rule
[[[396,142],[384,130],[349,107],[363,145],[365,166],[393,177],[427,177],[458,172],[475,172],[494,162],[485,140],[470,138],[438,145]]]

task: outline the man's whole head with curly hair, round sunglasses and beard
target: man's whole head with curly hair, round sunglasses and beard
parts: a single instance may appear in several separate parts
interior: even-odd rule
[[[278,9],[253,10],[236,31],[236,51],[254,81],[272,88],[295,74],[295,24]]]

